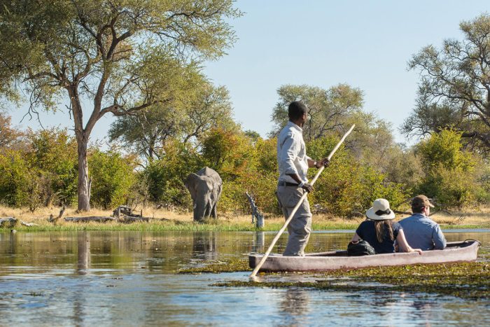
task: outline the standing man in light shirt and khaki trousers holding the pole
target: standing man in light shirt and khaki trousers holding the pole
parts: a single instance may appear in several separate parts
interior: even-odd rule
[[[289,121],[277,138],[277,162],[279,164],[279,182],[277,198],[287,219],[293,208],[305,192],[311,192],[313,186],[308,183],[308,167],[320,168],[328,165],[328,159],[312,160],[306,155],[302,127],[307,121],[308,108],[299,101],[291,102],[288,107]],[[305,198],[288,225],[288,245],[283,256],[304,256],[311,232],[311,211]]]

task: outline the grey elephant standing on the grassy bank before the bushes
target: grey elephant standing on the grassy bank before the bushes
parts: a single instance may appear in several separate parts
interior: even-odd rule
[[[223,181],[220,175],[209,167],[191,173],[184,182],[193,198],[194,221],[202,221],[210,216],[218,218],[216,204],[221,196]]]

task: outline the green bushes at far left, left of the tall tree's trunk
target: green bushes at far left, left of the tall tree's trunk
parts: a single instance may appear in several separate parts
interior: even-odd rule
[[[76,142],[66,130],[27,132],[16,151],[2,155],[0,199],[35,210],[42,205],[72,204],[76,196]]]

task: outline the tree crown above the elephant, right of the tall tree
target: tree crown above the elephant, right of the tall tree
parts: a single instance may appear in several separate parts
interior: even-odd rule
[[[170,139],[188,143],[200,139],[212,127],[230,126],[232,106],[225,87],[214,87],[208,82],[195,85],[181,102],[158,104],[152,109],[132,116],[118,118],[111,125],[109,138],[123,141],[146,160],[160,159]]]

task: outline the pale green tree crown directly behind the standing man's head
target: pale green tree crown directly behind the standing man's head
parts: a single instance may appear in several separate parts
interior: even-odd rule
[[[335,85],[328,90],[309,85],[283,85],[277,93],[279,102],[272,111],[272,122],[276,127],[271,134],[278,134],[288,122],[290,102],[301,101],[309,109],[309,119],[303,127],[304,141],[342,130],[345,118],[363,106],[363,92],[347,84]]]

